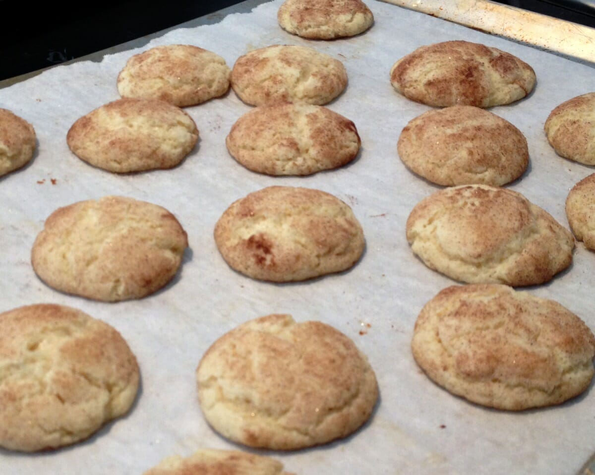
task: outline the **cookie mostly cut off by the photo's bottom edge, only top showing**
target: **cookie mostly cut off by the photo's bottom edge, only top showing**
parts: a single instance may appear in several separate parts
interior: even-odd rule
[[[164,458],[143,475],[293,475],[270,457],[248,452],[202,449],[190,457]]]

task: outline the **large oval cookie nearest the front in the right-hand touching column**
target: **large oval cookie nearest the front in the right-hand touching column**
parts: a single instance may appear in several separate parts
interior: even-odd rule
[[[497,409],[560,404],[593,377],[595,337],[583,321],[504,285],[442,290],[419,314],[411,347],[438,385]]]

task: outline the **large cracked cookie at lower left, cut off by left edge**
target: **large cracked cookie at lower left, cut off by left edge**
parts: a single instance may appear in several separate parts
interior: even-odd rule
[[[136,358],[107,323],[62,305],[0,314],[0,446],[33,452],[86,439],[126,414],[138,387]]]

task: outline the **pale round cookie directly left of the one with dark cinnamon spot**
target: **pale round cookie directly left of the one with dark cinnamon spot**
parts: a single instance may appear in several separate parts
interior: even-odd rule
[[[54,289],[117,302],[165,286],[187,246],[186,232],[165,208],[106,196],[54,211],[37,235],[31,262]]]

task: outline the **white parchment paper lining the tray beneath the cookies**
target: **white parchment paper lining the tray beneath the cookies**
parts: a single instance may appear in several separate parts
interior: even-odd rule
[[[53,68],[0,90],[0,107],[30,121],[39,150],[32,163],[0,179],[1,310],[37,302],[71,305],[117,328],[136,354],[142,388],[129,415],[89,440],[42,454],[0,450],[0,471],[10,474],[140,474],[162,458],[202,447],[239,448],[213,432],[202,417],[194,371],[217,337],[246,320],[287,312],[296,320],[321,320],[350,336],[368,355],[381,399],[371,421],[347,439],[297,452],[267,452],[286,470],[307,473],[493,474],[573,473],[595,449],[595,391],[591,387],[559,407],[506,413],[465,402],[434,385],[409,349],[421,307],[452,280],[412,255],[405,221],[414,205],[439,189],[406,170],[396,154],[405,124],[430,108],[396,93],[392,64],[418,46],[452,39],[485,43],[530,63],[533,93],[516,104],[492,108],[525,134],[530,168],[510,187],[567,226],[568,190],[592,167],[558,157],[543,123],[560,102],[595,90],[592,67],[497,38],[439,18],[369,1],[375,24],[363,35],[312,42],[277,25],[281,0],[221,23],[180,29],[148,46],[191,43],[223,56],[228,65],[247,51],[274,43],[312,46],[342,60],[345,93],[329,107],[352,118],[362,138],[358,159],[340,170],[310,177],[252,173],[228,155],[225,137],[250,110],[230,92],[186,111],[201,131],[199,145],[177,168],[118,176],[80,161],[65,136],[77,118],[118,98],[115,79],[132,54]],[[318,188],[351,205],[364,227],[367,249],[350,271],[310,282],[274,285],[231,270],[212,230],[235,199],[270,185]],[[118,194],[162,205],[179,218],[190,248],[173,283],[140,301],[107,304],[63,295],[40,282],[30,249],[55,208]],[[532,287],[554,298],[595,329],[595,254],[578,244],[572,267],[551,283]]]

